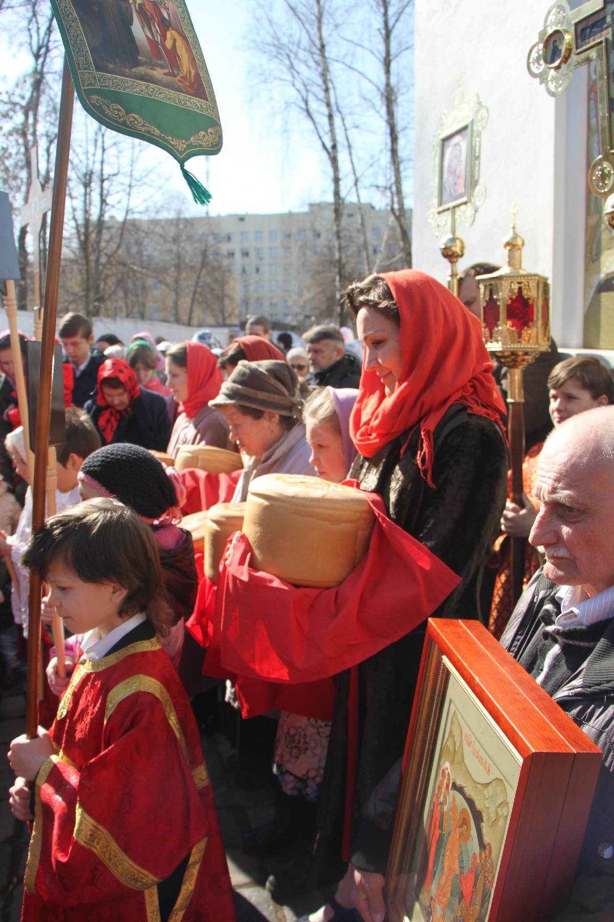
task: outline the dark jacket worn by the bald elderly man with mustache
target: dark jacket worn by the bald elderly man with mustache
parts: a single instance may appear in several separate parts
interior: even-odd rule
[[[536,652],[540,638],[561,614],[555,598],[558,585],[538,570],[520,597],[505,628],[501,643],[527,671],[539,668]],[[549,630],[550,629],[550,630]],[[585,637],[569,637],[569,631]],[[573,718],[586,736],[603,752],[597,792],[588,819],[571,903],[555,922],[611,922],[614,918],[614,618],[592,628],[560,632],[559,643],[576,656],[583,649],[581,665],[574,663],[573,675],[554,691],[552,699]],[[582,646],[581,646],[582,644]]]

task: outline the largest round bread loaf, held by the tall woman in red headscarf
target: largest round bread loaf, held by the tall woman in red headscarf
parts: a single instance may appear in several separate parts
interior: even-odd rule
[[[292,585],[342,583],[364,557],[375,522],[360,491],[295,474],[253,479],[246,507],[251,565]]]

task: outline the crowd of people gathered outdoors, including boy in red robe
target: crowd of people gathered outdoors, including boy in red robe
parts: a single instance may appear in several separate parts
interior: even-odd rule
[[[92,919],[232,922],[224,846],[185,691],[197,669],[217,680],[220,707],[234,708],[245,727],[276,721],[261,740],[238,734],[254,764],[270,738],[275,813],[244,848],[261,857],[290,850],[267,881],[273,898],[334,885],[303,922],[383,922],[428,614],[482,621],[602,749],[571,902],[557,918],[611,918],[614,384],[597,358],[565,356],[555,345],[527,367],[523,505],[506,499],[505,373],[493,367],[476,318],[475,276],[484,271],[465,273],[459,298],[415,270],[353,283],[345,297],[355,340],[318,325],[303,345],[289,334],[275,344],[258,316],[214,353],[146,331],[127,345],[110,333],[95,341],[86,317],[67,314],[58,325],[66,437],[57,514],[34,536],[16,357],[0,334],[3,683],[26,687],[30,573],[44,581],[44,625],[55,609],[67,635],[63,675],[43,631],[42,728],[9,752],[18,776],[13,811],[34,822],[24,918],[80,919],[87,910]],[[178,472],[180,449],[197,445],[237,453],[237,470]],[[401,604],[402,621],[399,587],[407,580],[409,597],[410,577],[372,561],[384,637],[376,652],[334,669],[335,650],[322,642],[334,674],[328,710],[295,695],[251,717],[240,676],[214,661],[219,587],[181,520],[216,502],[245,502],[255,479],[280,473],[377,496],[398,534],[441,561],[456,587],[411,629],[393,632],[387,615],[392,624]],[[516,608],[511,538],[526,539]],[[154,847],[161,830],[164,847]]]

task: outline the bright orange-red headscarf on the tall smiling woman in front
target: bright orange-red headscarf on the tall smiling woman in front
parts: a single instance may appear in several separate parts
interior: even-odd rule
[[[394,392],[386,396],[376,372],[367,371],[363,362],[350,418],[352,440],[361,455],[373,457],[403,432],[420,426],[417,461],[424,479],[434,486],[433,432],[446,409],[464,404],[469,413],[501,425],[504,402],[478,318],[423,272],[404,269],[380,278],[388,282],[399,307],[402,367]]]

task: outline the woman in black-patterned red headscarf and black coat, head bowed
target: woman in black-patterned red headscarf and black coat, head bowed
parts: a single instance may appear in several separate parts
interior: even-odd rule
[[[85,406],[102,444],[129,442],[164,451],[170,435],[164,397],[139,387],[127,361],[107,359],[98,369],[98,394]]]

